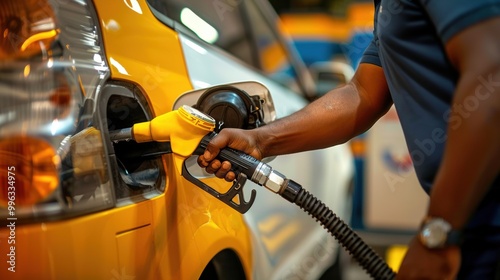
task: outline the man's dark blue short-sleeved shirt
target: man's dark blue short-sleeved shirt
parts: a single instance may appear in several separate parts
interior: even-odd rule
[[[417,177],[428,193],[448,127],[460,126],[461,117],[477,106],[464,104],[463,114],[450,117],[458,72],[444,46],[458,32],[495,16],[500,16],[498,0],[375,0],[374,38],[361,63],[383,68]],[[479,79],[483,87],[475,101],[487,102],[495,84]],[[469,223],[480,225],[500,226],[500,176]]]

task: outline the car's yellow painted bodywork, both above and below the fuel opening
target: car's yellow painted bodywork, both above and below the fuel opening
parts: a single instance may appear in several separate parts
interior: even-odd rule
[[[148,16],[145,2],[137,4],[134,10],[124,2],[94,3],[111,79],[140,85],[147,92],[148,103],[155,104],[151,110],[159,115],[170,111],[176,93],[191,85],[176,33]],[[133,34],[140,38],[134,40]],[[165,49],[145,52],[145,44]],[[164,194],[81,218],[18,227],[17,271],[1,270],[0,278],[108,279],[126,275],[197,279],[224,248],[233,248],[249,271],[250,240],[241,215],[180,178],[180,170],[174,170],[171,161],[165,156],[167,178],[175,179],[167,182]],[[222,183],[213,181],[210,184]],[[4,238],[8,234],[5,228],[0,231]],[[149,245],[149,250],[141,245]],[[126,257],[127,253],[132,255]]]

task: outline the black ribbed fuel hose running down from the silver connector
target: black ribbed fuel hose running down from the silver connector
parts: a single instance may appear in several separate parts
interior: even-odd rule
[[[396,278],[396,273],[356,232],[300,184],[288,180],[287,187],[280,195],[320,222],[372,278],[380,280]]]

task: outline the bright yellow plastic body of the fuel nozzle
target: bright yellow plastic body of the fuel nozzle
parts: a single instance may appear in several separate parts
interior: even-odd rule
[[[151,121],[134,124],[132,138],[136,142],[168,141],[175,154],[187,157],[214,128],[212,117],[184,105]]]

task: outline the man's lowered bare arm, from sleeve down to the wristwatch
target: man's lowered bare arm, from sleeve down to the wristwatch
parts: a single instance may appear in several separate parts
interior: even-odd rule
[[[444,157],[428,214],[462,228],[500,171],[500,18],[458,33],[446,44],[460,73]]]

